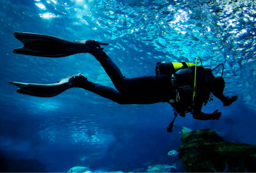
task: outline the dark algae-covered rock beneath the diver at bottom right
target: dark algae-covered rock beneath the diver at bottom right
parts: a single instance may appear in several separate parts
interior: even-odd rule
[[[256,146],[224,142],[211,129],[181,136],[178,157],[187,172],[256,172]]]

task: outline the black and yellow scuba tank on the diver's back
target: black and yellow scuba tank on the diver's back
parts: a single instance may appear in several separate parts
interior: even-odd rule
[[[172,63],[172,62],[160,62],[156,63],[156,75],[162,74],[174,74],[179,68],[189,68],[195,66],[194,63]]]

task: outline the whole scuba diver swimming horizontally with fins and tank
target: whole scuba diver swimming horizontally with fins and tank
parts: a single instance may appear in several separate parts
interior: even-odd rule
[[[24,46],[14,49],[14,53],[41,57],[65,57],[76,53],[90,53],[102,65],[112,80],[115,89],[98,83],[90,82],[84,75],[77,74],[61,79],[54,84],[32,84],[9,82],[18,87],[17,92],[36,97],[53,97],[63,91],[78,87],[102,97],[111,99],[118,104],[154,104],[167,102],[174,109],[174,119],[167,128],[172,131],[177,114],[185,117],[190,112],[194,119],[218,120],[221,112],[201,112],[203,104],[213,100],[213,95],[229,106],[238,96],[232,98],[223,95],[225,81],[222,75],[214,77],[210,68],[196,66],[193,63],[157,63],[156,75],[126,78],[118,66],[110,59],[100,45],[106,43],[95,40],[69,41],[58,37],[33,33],[14,33],[15,38]],[[200,58],[200,57],[199,57]],[[196,60],[197,61],[197,60]],[[202,60],[201,60],[202,64]],[[224,69],[224,65],[223,65]],[[212,95],[212,94],[213,95]]]

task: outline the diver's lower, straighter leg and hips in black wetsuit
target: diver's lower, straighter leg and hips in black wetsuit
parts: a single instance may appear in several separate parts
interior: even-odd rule
[[[145,76],[127,79],[128,86],[123,92],[109,86],[82,80],[75,84],[102,97],[111,99],[118,104],[154,104],[166,102],[171,94],[171,82],[168,75]]]

